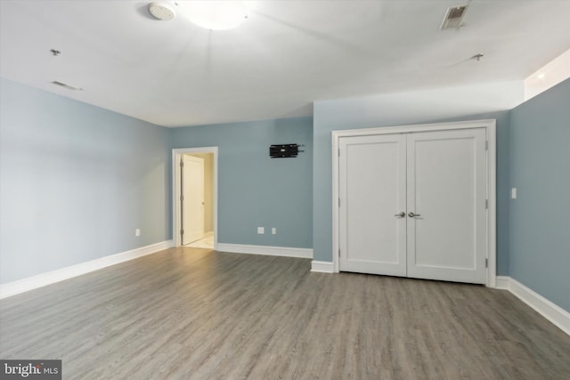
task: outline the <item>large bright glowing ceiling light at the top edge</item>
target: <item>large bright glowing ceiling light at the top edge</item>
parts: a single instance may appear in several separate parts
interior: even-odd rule
[[[178,11],[201,28],[228,30],[238,28],[248,19],[248,7],[243,1],[185,1]]]

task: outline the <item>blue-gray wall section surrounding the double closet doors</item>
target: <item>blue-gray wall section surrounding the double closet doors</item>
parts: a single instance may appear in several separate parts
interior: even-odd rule
[[[430,110],[430,117],[434,118],[428,119],[421,114],[410,116],[402,113],[401,117],[382,117],[381,112],[354,112],[354,107],[360,106],[355,100],[322,101],[314,106],[314,260],[332,261],[332,131],[494,118],[497,120],[497,274],[508,275],[509,111],[462,117],[445,117],[445,113],[440,112],[440,116],[436,117]],[[383,104],[367,104],[366,107],[382,109]],[[414,104],[410,104],[410,108],[413,109]],[[352,117],[346,120],[342,114]]]

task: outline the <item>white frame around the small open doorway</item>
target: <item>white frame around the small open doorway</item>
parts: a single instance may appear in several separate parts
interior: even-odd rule
[[[175,247],[182,246],[180,237],[180,158],[183,154],[212,153],[214,155],[214,249],[217,249],[217,147],[181,148],[172,150],[172,239]]]

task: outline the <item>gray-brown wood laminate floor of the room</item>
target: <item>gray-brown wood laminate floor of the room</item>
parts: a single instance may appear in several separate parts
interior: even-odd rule
[[[172,248],[0,301],[2,359],[64,379],[570,379],[507,291]]]

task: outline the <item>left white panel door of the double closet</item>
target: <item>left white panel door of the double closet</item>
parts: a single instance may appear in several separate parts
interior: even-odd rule
[[[406,275],[406,138],[340,139],[340,271]]]

